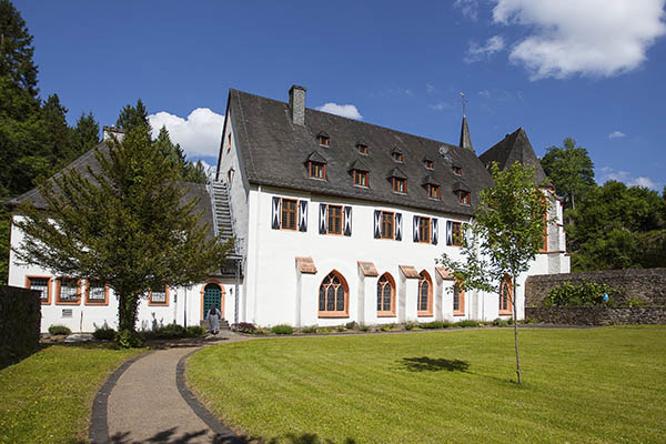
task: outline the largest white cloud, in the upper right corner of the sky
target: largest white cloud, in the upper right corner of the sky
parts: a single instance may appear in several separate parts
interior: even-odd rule
[[[509,59],[532,80],[572,74],[610,77],[636,69],[666,33],[666,0],[494,0],[493,20],[531,34]]]

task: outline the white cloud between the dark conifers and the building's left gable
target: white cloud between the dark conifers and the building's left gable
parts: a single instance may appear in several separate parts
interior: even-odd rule
[[[224,115],[209,108],[196,108],[186,119],[160,111],[150,114],[148,120],[155,135],[162,125],[167,125],[173,143],[180,143],[188,157],[218,157]]]

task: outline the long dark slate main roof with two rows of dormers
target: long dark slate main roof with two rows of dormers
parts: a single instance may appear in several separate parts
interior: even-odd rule
[[[229,93],[229,110],[241,169],[253,184],[462,215],[472,215],[478,192],[493,184],[484,164],[470,149],[312,109],[305,109],[304,127],[293,124],[287,103],[233,89]],[[317,134],[322,131],[331,138],[329,147],[319,144]],[[369,154],[363,155],[363,163],[370,169],[369,188],[354,186],[349,171],[359,158],[359,141],[369,147]],[[440,153],[441,148],[446,157]],[[395,150],[403,153],[403,162],[391,157]],[[325,181],[309,178],[303,161],[313,151],[326,161]],[[424,158],[434,160],[434,170],[425,168]],[[452,163],[462,167],[462,178],[453,174]],[[393,192],[386,179],[396,168],[407,178],[406,194]],[[422,186],[426,174],[442,186],[441,201],[430,199]],[[471,206],[461,205],[454,193],[453,184],[461,180],[472,191]]]

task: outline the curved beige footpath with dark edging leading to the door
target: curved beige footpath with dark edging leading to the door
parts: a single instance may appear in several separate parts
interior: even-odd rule
[[[206,345],[246,340],[225,332]],[[242,443],[185,386],[185,360],[201,347],[152,351],[121,365],[94,398],[90,442]]]

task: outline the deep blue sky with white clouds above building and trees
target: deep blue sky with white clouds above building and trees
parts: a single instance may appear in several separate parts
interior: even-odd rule
[[[41,94],[71,123],[141,98],[193,159],[214,162],[230,88],[457,143],[460,92],[481,153],[524,127],[565,137],[597,181],[666,185],[665,0],[14,1]],[[333,107],[333,105],[329,105]],[[333,107],[335,108],[335,107]],[[351,112],[351,114],[350,114]]]

